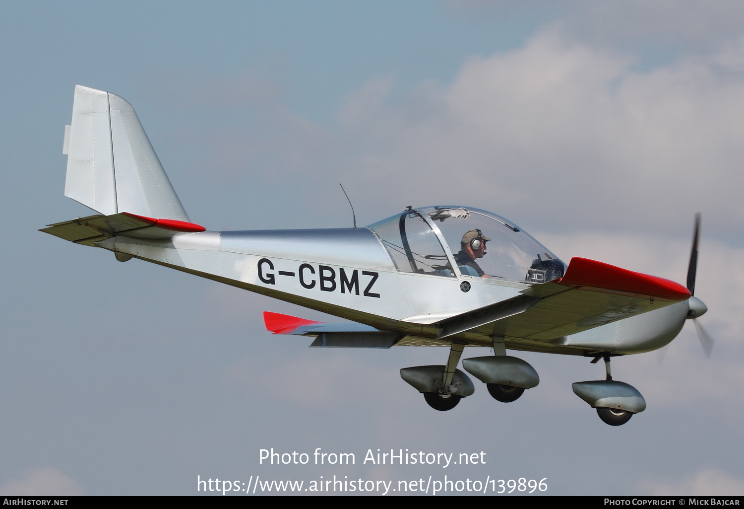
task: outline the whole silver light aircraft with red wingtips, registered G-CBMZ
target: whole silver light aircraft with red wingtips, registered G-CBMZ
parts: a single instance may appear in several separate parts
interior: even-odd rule
[[[400,370],[441,411],[475,391],[457,369],[464,347],[490,347],[462,366],[501,402],[539,383],[507,349],[603,359],[605,379],[573,389],[619,426],[646,402],[612,379],[610,358],[663,347],[707,311],[693,297],[699,215],[685,288],[590,259],[565,265],[513,222],[466,206],[408,206],[363,228],[208,231],[190,221],[132,106],[85,86],[63,153],[65,195],[100,214],[42,232],[352,320],[264,313],[269,331],[314,337],[311,347],[449,347],[445,364]]]

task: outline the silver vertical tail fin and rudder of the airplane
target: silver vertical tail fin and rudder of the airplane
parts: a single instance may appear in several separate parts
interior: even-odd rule
[[[134,108],[118,95],[75,86],[65,153],[65,196],[104,215],[190,222]]]

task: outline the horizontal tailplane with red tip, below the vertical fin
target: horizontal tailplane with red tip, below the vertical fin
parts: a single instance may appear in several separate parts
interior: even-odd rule
[[[78,244],[93,245],[94,241],[114,235],[132,238],[171,238],[177,233],[203,232],[205,227],[185,221],[146,218],[122,212],[112,215],[90,215],[87,218],[50,224],[39,231]]]

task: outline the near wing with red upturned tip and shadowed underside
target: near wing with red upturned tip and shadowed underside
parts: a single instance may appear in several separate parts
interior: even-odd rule
[[[548,341],[690,298],[668,279],[586,258],[571,259],[562,279],[438,323],[443,339],[461,332]]]

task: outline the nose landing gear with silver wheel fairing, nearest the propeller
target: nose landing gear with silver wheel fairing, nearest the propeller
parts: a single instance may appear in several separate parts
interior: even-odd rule
[[[604,358],[605,361],[606,379],[576,382],[574,393],[593,408],[597,408],[597,415],[604,423],[610,426],[622,426],[633,417],[633,414],[646,409],[646,400],[632,385],[612,379],[609,369],[609,352],[595,357],[591,363],[596,363],[600,358]]]

